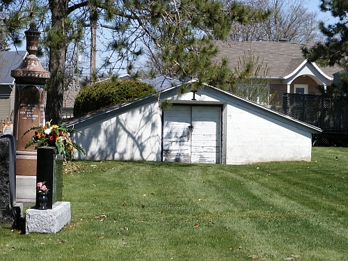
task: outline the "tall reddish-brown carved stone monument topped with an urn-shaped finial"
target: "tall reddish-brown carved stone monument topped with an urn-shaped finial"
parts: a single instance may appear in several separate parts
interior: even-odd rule
[[[44,86],[50,74],[42,68],[35,56],[38,50],[40,32],[35,24],[25,31],[26,51],[29,53],[19,68],[11,71],[15,78],[15,118],[13,136],[17,139],[17,175],[36,175],[36,151],[33,147],[25,150],[25,145],[34,132],[20,139],[31,127],[45,125]]]

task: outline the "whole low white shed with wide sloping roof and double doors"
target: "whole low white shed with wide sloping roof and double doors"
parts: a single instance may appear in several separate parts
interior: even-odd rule
[[[84,134],[73,139],[86,156],[75,157],[211,164],[310,161],[312,134],[321,129],[211,86],[194,96],[177,95],[177,88],[161,91],[161,100],[173,102],[166,111],[149,95],[67,122]]]

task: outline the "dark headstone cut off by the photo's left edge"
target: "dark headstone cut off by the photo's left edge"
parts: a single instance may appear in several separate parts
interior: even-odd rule
[[[14,226],[22,217],[23,205],[16,203],[16,141],[0,135],[0,223]]]

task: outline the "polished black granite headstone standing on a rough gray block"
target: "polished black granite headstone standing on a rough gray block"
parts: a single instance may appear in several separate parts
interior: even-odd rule
[[[48,191],[47,208],[57,201],[62,201],[63,191],[63,155],[56,155],[52,147],[38,148],[36,183],[45,182]],[[36,195],[36,207],[40,207],[38,193]]]

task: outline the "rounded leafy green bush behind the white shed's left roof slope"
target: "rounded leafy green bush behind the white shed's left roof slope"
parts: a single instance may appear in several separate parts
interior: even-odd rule
[[[155,88],[141,81],[111,81],[86,86],[81,88],[75,99],[74,117],[84,116],[92,111],[129,102],[152,93],[156,93]]]

